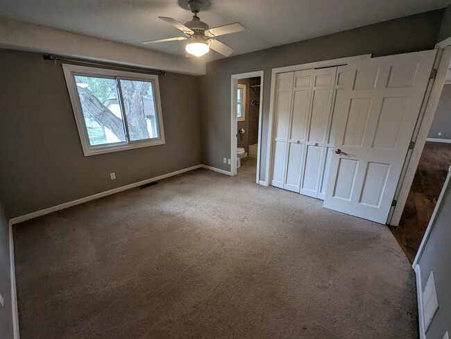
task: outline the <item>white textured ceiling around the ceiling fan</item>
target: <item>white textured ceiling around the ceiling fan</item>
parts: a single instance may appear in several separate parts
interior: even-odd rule
[[[182,0],[0,0],[0,17],[143,46],[144,40],[176,37],[180,31],[159,16],[185,23]],[[210,27],[241,22],[244,32],[218,40],[232,55],[267,49],[350,28],[443,8],[451,0],[210,0],[199,14]],[[183,42],[143,46],[184,55]],[[223,58],[216,52],[207,59]]]

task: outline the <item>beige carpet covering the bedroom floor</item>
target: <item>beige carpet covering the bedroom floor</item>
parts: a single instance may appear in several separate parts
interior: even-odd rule
[[[198,170],[15,226],[22,339],[418,338],[378,225]]]

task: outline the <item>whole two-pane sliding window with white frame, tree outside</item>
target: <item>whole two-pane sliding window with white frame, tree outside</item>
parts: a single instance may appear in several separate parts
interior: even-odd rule
[[[164,144],[158,76],[62,67],[85,156]]]

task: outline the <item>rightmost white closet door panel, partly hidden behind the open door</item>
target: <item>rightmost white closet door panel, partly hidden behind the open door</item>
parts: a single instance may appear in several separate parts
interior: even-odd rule
[[[334,98],[332,103],[332,111],[330,112],[330,123],[327,126],[327,144],[325,146],[324,166],[320,177],[320,189],[318,192],[318,199],[324,200],[325,189],[327,187],[327,178],[329,177],[330,163],[334,155],[334,139],[335,130],[337,129],[337,119],[334,119],[334,112],[337,112],[343,102],[343,89],[348,81],[350,81],[349,73],[347,73],[347,66],[337,67],[337,76],[335,77]]]

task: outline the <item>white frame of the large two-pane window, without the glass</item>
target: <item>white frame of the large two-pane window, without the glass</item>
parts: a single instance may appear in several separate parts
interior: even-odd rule
[[[101,69],[96,67],[79,66],[75,64],[62,64],[62,69],[65,74],[66,85],[69,91],[69,97],[71,99],[71,105],[78,129],[78,135],[80,136],[80,142],[85,157],[89,157],[91,155],[99,155],[103,153],[119,152],[121,150],[130,150],[133,148],[142,148],[165,144],[163,116],[160,100],[160,85],[158,83],[158,76],[128,71],[116,71],[114,69]],[[87,134],[87,128],[83,116],[80,98],[78,96],[78,91],[76,88],[74,75],[99,76],[99,77],[105,76],[108,78],[114,77],[117,78],[117,80],[144,80],[152,82],[153,100],[155,103],[155,117],[157,117],[156,123],[159,137],[153,139],[130,141],[129,137],[126,136],[126,141],[91,146]],[[120,101],[120,98],[118,98],[118,100]],[[126,119],[126,112],[122,112],[122,114],[124,116],[124,119]],[[126,134],[128,133],[128,127],[126,125],[124,128],[124,132]]]

